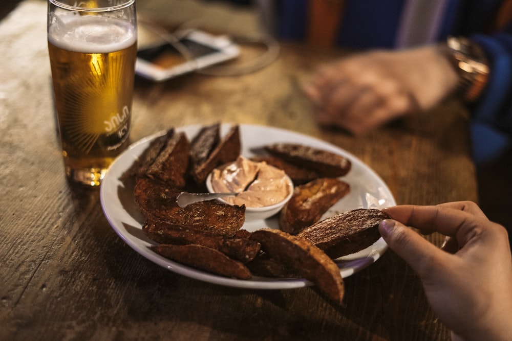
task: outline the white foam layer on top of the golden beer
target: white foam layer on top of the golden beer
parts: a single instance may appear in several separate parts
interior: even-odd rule
[[[50,43],[80,53],[119,51],[136,40],[136,28],[130,22],[98,16],[61,17],[48,30]]]

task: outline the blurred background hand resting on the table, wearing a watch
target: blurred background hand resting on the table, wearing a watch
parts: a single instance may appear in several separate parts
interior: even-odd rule
[[[317,71],[304,85],[322,125],[363,134],[427,110],[456,88],[457,74],[439,46],[360,53]]]

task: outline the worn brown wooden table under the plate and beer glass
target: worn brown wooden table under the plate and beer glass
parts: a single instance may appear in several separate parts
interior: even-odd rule
[[[300,82],[342,52],[281,48],[278,60],[244,76],[137,79],[133,141],[218,121],[281,127],[353,153],[398,203],[477,200],[467,119],[457,103],[361,138],[322,129]],[[98,190],[70,185],[63,175],[46,3],[24,2],[0,23],[0,52],[0,339],[449,339],[417,277],[391,251],[346,279],[342,305],[311,287],[204,283],[141,257],[105,219]]]

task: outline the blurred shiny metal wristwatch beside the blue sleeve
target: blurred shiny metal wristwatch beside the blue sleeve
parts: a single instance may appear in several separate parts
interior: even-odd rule
[[[458,92],[466,102],[474,102],[482,93],[489,76],[483,49],[471,39],[449,36],[447,55],[459,75]]]

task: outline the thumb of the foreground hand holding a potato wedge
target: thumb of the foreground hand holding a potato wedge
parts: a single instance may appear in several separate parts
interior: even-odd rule
[[[379,232],[389,247],[406,261],[420,276],[427,278],[435,258],[442,258],[444,252],[402,223],[385,219],[379,224]]]

